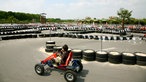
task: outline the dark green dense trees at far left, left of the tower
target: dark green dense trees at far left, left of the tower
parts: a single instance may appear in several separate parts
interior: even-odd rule
[[[29,23],[39,22],[39,20],[39,14],[0,11],[0,23]]]

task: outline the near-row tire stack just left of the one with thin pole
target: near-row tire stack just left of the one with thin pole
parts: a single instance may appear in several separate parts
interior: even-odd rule
[[[90,50],[90,49],[83,50],[82,54],[83,54],[83,59],[86,61],[94,61],[96,58],[94,50]]]

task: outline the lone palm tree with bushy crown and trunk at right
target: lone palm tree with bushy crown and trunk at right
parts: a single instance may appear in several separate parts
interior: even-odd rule
[[[122,29],[124,29],[125,21],[129,19],[130,16],[132,15],[131,13],[132,11],[129,11],[124,8],[120,8],[120,10],[117,12],[117,15],[122,19]]]

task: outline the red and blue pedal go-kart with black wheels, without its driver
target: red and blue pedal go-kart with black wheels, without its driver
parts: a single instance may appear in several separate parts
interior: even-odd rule
[[[64,78],[67,82],[75,82],[77,79],[76,74],[83,70],[83,65],[81,63],[81,60],[72,59],[72,55],[73,55],[73,53],[70,51],[65,64],[60,64],[57,66],[54,65],[55,69],[60,69],[60,70],[65,71]],[[57,57],[57,52],[53,53],[48,58],[42,60],[39,64],[36,64],[35,72],[38,75],[43,75],[45,72],[44,66],[47,65],[47,61],[51,60],[52,58],[56,58],[56,57]]]

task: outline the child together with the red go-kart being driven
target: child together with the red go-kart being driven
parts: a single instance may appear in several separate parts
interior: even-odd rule
[[[48,65],[53,69],[60,69],[65,71],[64,78],[67,82],[75,82],[77,79],[77,73],[83,70],[83,65],[80,59],[73,59],[73,53],[68,51],[68,46],[65,44],[61,51],[53,53],[40,63],[36,64],[34,69],[38,75],[43,75],[47,71],[44,66]],[[53,63],[57,63],[54,66]],[[70,64],[69,64],[70,63]]]

